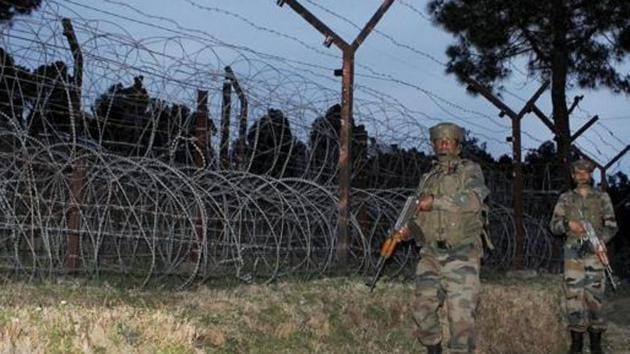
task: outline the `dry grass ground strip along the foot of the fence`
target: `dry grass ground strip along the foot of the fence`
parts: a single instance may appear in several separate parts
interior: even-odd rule
[[[558,278],[487,279],[479,352],[561,353]],[[190,291],[77,280],[6,282],[1,353],[412,353],[413,284],[333,278]],[[612,298],[605,345],[630,353],[630,293]]]

